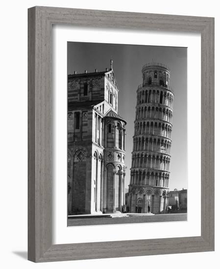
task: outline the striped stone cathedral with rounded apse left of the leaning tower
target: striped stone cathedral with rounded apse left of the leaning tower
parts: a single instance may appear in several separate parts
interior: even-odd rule
[[[125,203],[125,120],[111,68],[68,75],[68,215],[117,213]]]

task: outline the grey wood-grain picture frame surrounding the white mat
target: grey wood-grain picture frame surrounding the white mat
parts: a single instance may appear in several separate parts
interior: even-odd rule
[[[201,34],[201,236],[52,245],[52,25]],[[28,9],[28,260],[214,250],[214,18],[36,6]]]

